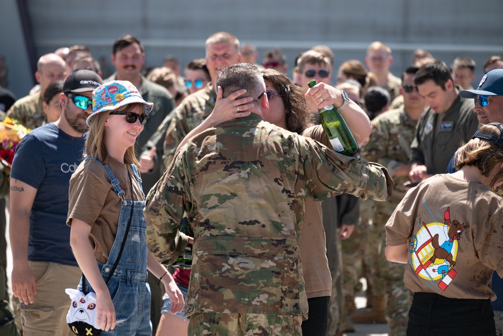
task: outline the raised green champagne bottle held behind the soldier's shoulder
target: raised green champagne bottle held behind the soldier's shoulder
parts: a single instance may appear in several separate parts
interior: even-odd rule
[[[315,85],[316,80],[314,79],[308,83],[309,88]],[[327,105],[322,109],[318,109],[318,111],[321,126],[323,126],[323,130],[328,136],[333,150],[350,156],[358,153],[358,143],[341,113],[333,105]]]

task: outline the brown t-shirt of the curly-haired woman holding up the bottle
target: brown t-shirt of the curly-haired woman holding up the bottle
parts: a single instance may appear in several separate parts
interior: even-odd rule
[[[331,148],[321,125],[306,129],[302,135]],[[332,278],[326,259],[326,239],[321,216],[321,202],[306,199],[304,224],[300,234],[300,260],[307,298],[330,296]]]

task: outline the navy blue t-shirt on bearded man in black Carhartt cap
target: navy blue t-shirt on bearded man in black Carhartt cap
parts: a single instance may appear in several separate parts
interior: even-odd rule
[[[30,212],[28,260],[77,266],[70,248],[68,187],[86,142],[54,123],[36,128],[16,148],[11,179],[37,189]]]

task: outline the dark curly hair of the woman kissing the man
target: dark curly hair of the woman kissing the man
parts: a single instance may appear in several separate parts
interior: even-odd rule
[[[282,72],[274,69],[262,70],[264,80],[269,80],[276,91],[283,96],[286,111],[286,125],[290,132],[302,133],[314,125],[314,115],[307,106],[304,92]]]

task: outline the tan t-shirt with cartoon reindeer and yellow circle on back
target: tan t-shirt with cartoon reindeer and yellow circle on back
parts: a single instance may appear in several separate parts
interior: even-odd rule
[[[435,175],[410,189],[386,223],[386,245],[409,245],[403,281],[413,292],[491,299],[503,275],[503,198],[478,182]]]

